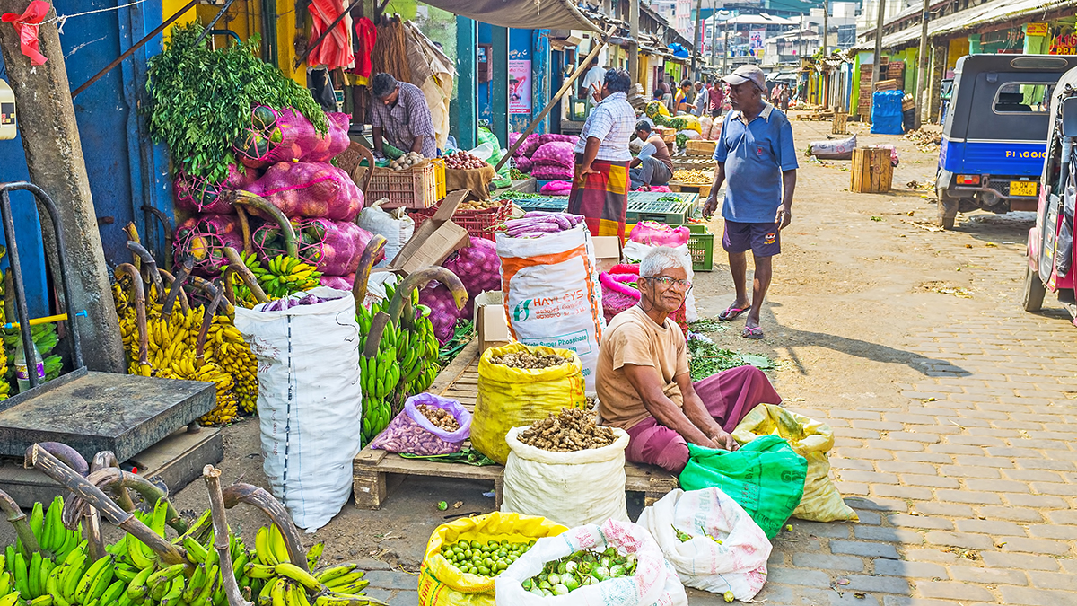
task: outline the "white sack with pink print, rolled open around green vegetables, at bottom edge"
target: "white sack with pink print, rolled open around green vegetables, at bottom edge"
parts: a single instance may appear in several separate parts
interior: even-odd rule
[[[565,595],[543,597],[520,584],[542,571],[553,560],[581,549],[637,555],[635,576],[585,586]],[[601,526],[578,526],[556,537],[538,539],[534,547],[493,579],[496,606],[687,606],[688,597],[676,571],[662,559],[658,543],[643,527],[606,520]]]

